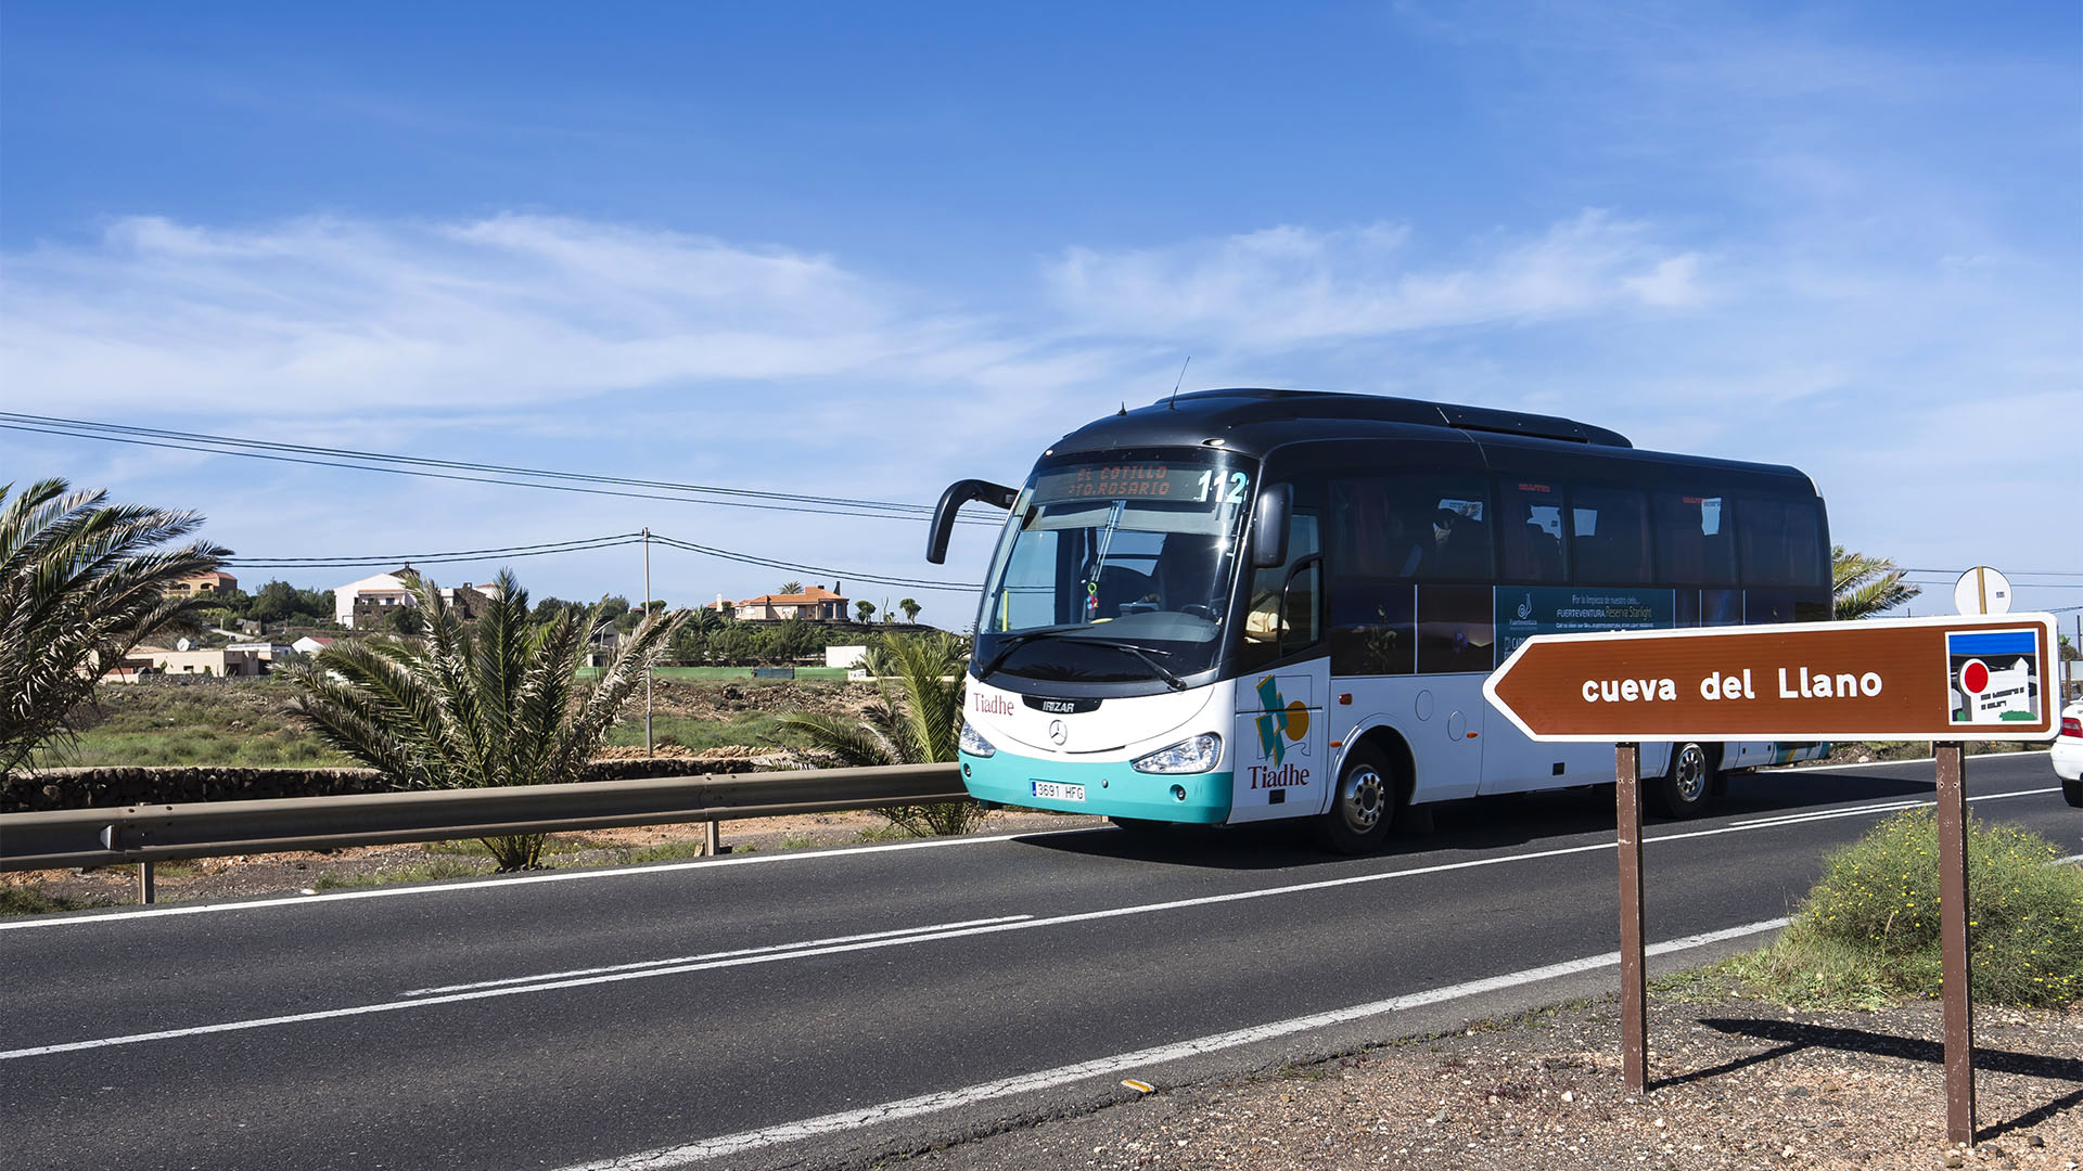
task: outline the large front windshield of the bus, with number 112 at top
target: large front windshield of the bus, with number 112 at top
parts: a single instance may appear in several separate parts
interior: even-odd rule
[[[992,560],[977,677],[1179,686],[1212,667],[1254,475],[1194,448],[1044,460]]]

